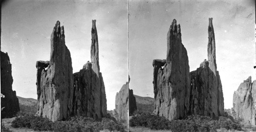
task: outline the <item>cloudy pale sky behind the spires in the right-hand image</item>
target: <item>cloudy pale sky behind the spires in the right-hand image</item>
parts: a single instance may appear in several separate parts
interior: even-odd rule
[[[208,18],[212,17],[216,62],[224,107],[232,107],[233,92],[249,76],[255,80],[254,1],[129,1],[130,89],[154,97],[154,59],[166,59],[167,32],[173,19],[180,23],[189,71],[207,59]]]

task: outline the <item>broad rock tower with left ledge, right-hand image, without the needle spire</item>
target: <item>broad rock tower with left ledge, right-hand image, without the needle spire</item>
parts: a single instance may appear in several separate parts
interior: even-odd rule
[[[169,120],[184,117],[189,109],[189,65],[180,24],[175,19],[167,33],[166,60],[154,60],[153,67],[154,113]]]

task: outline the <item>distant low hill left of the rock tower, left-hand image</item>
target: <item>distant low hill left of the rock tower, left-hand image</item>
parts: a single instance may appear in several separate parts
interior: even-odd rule
[[[20,112],[28,113],[28,114],[33,114],[35,115],[37,112],[37,100],[34,98],[23,98],[19,97],[18,102],[19,102],[19,109]]]

